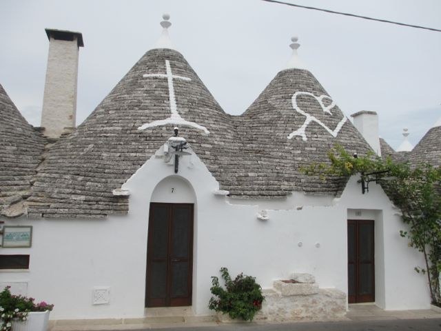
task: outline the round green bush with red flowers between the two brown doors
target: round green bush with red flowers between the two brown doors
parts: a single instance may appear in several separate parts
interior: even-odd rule
[[[209,309],[228,314],[231,319],[252,321],[265,299],[256,278],[240,273],[232,280],[227,268],[220,268],[220,274],[225,281],[225,289],[219,285],[218,277],[212,277],[210,290],[214,297],[209,299]]]

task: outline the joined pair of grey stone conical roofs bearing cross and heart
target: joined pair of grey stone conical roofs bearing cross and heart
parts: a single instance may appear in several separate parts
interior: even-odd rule
[[[346,179],[323,182],[300,168],[327,161],[336,143],[359,154],[369,146],[327,95],[311,72],[291,68],[279,72],[243,115],[232,116],[179,52],[150,50],[75,132],[50,149],[28,199],[29,215],[127,213],[127,197],[114,197],[112,190],[176,125],[232,197],[286,197],[294,190],[338,195]]]

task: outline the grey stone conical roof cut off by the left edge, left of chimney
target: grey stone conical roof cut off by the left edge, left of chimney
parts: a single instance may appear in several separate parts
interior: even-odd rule
[[[45,139],[21,116],[0,85],[0,212],[19,216],[30,195]],[[13,206],[17,208],[12,208]]]

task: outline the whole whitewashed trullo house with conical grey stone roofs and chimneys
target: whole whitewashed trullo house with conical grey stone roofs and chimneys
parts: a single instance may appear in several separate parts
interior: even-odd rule
[[[212,314],[210,277],[223,266],[273,297],[274,281],[306,273],[316,305],[429,308],[413,270],[422,256],[381,186],[363,194],[359,178],[300,171],[336,143],[400,157],[379,139],[376,113],[351,123],[293,38],[287,66],[242,115],[227,114],[170,43],[170,25],[165,16],[156,47],[77,128],[81,33],[46,30],[41,128],[0,86],[1,285],[54,303],[51,319],[175,305]],[[440,124],[405,157],[440,165]]]

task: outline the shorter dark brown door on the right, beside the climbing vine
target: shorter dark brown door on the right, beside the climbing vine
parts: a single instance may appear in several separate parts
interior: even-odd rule
[[[347,221],[349,303],[375,301],[373,221]]]

